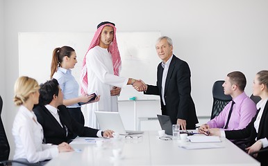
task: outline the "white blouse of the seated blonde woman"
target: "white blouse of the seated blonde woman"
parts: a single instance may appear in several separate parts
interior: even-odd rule
[[[12,127],[15,141],[15,156],[26,158],[29,163],[37,163],[58,156],[58,146],[43,144],[44,138],[41,124],[33,111],[20,106]]]

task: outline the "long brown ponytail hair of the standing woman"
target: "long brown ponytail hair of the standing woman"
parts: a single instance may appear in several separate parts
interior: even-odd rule
[[[53,77],[53,74],[56,73],[58,67],[60,67],[60,63],[62,62],[63,57],[71,57],[71,54],[74,51],[74,48],[70,46],[62,46],[61,48],[58,47],[53,50],[50,78]]]

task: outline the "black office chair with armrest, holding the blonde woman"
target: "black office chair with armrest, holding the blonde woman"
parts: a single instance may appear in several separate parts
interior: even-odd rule
[[[2,165],[12,165],[12,163],[20,163],[22,165],[38,165],[32,163],[24,163],[18,160],[8,160],[10,153],[10,146],[8,143],[8,138],[6,137],[5,129],[3,128],[3,122],[1,118],[1,112],[3,108],[3,100],[0,95],[0,166]]]

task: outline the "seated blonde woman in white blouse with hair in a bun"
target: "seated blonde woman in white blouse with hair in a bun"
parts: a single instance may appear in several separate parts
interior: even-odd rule
[[[13,122],[12,135],[15,140],[15,160],[44,165],[47,163],[44,160],[56,157],[60,152],[73,151],[73,149],[66,142],[60,145],[42,143],[43,129],[32,111],[33,105],[38,104],[39,89],[37,81],[31,77],[22,76],[15,82],[14,102],[19,106],[19,111]]]

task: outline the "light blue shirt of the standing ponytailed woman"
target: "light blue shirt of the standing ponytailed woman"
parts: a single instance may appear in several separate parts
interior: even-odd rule
[[[76,79],[72,75],[72,71],[70,69],[58,67],[58,71],[53,74],[53,78],[58,80],[58,84],[60,84],[60,88],[63,93],[63,100],[78,98],[79,84],[76,82]],[[76,103],[67,107],[76,108],[80,106]]]

